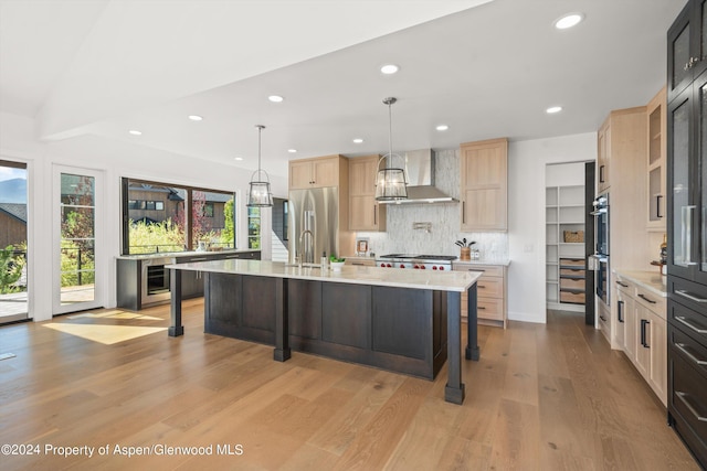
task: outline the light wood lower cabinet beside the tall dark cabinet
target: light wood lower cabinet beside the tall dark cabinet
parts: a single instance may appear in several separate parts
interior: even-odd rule
[[[663,405],[667,405],[667,322],[665,298],[616,274],[616,303],[623,317],[623,352]]]

